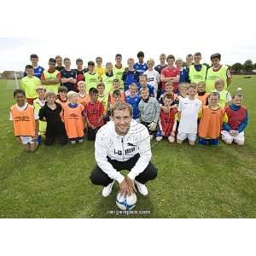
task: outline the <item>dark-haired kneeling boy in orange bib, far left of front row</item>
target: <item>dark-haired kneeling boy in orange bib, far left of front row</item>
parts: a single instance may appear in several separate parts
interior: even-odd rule
[[[27,151],[38,148],[38,112],[25,102],[24,90],[14,91],[16,104],[10,108],[9,119],[14,122],[15,137],[25,146]]]

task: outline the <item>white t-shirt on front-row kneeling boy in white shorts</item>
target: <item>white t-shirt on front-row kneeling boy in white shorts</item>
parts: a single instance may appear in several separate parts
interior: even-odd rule
[[[186,97],[179,102],[177,110],[181,112],[181,119],[178,132],[197,133],[197,118],[200,109],[201,101],[198,99],[189,100],[189,97]]]

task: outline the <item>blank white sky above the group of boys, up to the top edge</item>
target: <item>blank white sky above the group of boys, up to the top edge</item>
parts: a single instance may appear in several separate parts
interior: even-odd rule
[[[254,3],[249,0],[232,5],[220,0],[68,2],[75,12],[52,1],[54,12],[46,3],[35,11],[26,0],[15,3],[15,9],[12,2],[3,3],[7,11],[0,17],[0,72],[24,70],[34,53],[43,67],[55,55],[70,57],[74,67],[78,57],[87,62],[101,55],[106,63],[121,53],[126,64],[139,50],[156,64],[161,53],[184,60],[197,51],[203,62],[216,52],[224,64],[256,62]]]

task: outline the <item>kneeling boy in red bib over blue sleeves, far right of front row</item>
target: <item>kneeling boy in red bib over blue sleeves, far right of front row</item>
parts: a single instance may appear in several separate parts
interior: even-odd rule
[[[247,109],[241,106],[242,97],[236,94],[232,97],[232,104],[225,108],[229,120],[223,124],[221,134],[226,144],[233,142],[239,146],[244,144],[244,129],[247,126],[248,116]]]

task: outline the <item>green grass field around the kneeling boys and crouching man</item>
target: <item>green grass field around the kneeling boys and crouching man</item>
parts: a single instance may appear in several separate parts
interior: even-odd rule
[[[244,147],[189,147],[166,141],[152,143],[158,177],[147,183],[149,194],[137,195],[132,218],[256,217],[256,76],[235,76],[249,112]],[[0,80],[0,218],[127,218],[115,211],[115,185],[110,197],[90,183],[94,143],[38,148],[25,152],[13,135],[9,107],[14,81]]]

